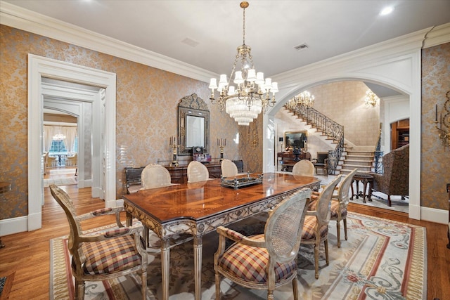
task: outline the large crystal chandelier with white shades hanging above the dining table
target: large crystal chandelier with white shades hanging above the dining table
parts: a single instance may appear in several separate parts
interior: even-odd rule
[[[241,2],[243,8],[243,44],[238,46],[238,54],[234,60],[231,75],[227,79],[226,74],[221,74],[219,84],[217,79],[212,78],[209,88],[211,89],[210,100],[219,105],[220,110],[226,111],[239,125],[249,126],[260,112],[266,112],[267,107],[276,103],[275,93],[278,92],[278,84],[272,79],[264,80],[263,72],[256,72],[253,65],[251,48],[245,45],[245,8],[248,2]],[[240,62],[240,70],[236,66]],[[231,78],[236,86],[230,84]],[[217,89],[219,97],[215,98],[214,90]]]

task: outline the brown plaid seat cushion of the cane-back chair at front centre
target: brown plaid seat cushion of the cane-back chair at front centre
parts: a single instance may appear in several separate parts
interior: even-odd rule
[[[264,240],[264,235],[253,235],[252,240]],[[266,266],[269,264],[269,254],[265,248],[251,247],[235,243],[217,261],[217,265],[224,271],[231,273],[235,278],[246,282],[267,282]],[[295,260],[290,263],[276,263],[275,280],[289,278],[297,272]]]

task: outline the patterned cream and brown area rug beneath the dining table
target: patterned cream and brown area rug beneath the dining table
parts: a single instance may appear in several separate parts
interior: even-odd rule
[[[261,224],[257,224],[257,230],[262,228]],[[233,227],[250,225],[233,224]],[[301,247],[297,270],[300,299],[426,299],[425,228],[354,213],[347,217],[347,226],[348,240],[343,240],[338,248],[335,222],[330,222],[330,265],[326,266],[322,248],[318,280],[314,278],[314,249],[309,245]],[[213,255],[217,241],[216,233],[203,238],[202,299],[215,299]],[[170,299],[194,299],[192,247],[192,241],[186,242],[170,253]],[[69,266],[67,237],[51,240],[51,299],[72,299],[74,281]],[[139,275],[86,282],[85,299],[138,299],[140,285]],[[161,297],[160,256],[151,253],[147,299]],[[266,299],[266,292],[222,280],[221,299]],[[277,289],[275,299],[293,299],[292,285]]]

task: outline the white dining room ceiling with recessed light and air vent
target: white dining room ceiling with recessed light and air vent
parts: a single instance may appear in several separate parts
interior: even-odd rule
[[[231,73],[236,47],[243,44],[240,1],[6,2],[217,74]],[[249,3],[245,44],[265,77],[450,22],[450,0]],[[378,15],[385,6],[394,11]],[[295,50],[304,43],[309,48]]]

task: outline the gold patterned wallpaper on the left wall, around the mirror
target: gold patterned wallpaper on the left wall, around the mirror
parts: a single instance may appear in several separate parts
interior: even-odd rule
[[[207,83],[0,25],[0,181],[12,181],[1,195],[0,219],[27,215],[27,55],[44,56],[117,74],[116,194],[124,193],[124,168],[172,159],[169,136],[177,133],[177,105],[197,93],[210,107],[210,139],[226,138],[224,157],[239,155],[238,125],[211,105]],[[233,141],[233,143],[231,142]],[[30,149],[39,151],[39,149]],[[211,143],[210,154],[220,150]]]

